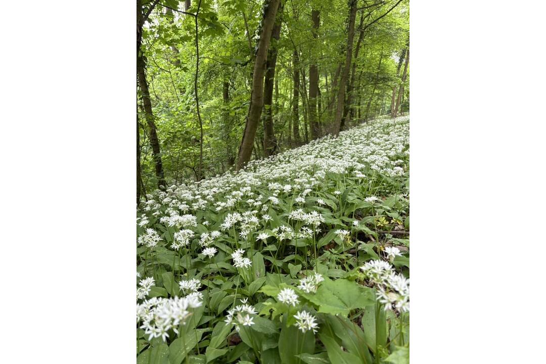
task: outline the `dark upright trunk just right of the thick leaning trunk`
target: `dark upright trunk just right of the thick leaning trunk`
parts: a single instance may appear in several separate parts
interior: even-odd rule
[[[281,35],[282,24],[282,0],[278,5],[275,25],[271,31],[271,46],[269,47],[268,60],[265,63],[265,85],[264,85],[264,154],[266,157],[272,156],[277,152],[277,139],[275,138],[275,129],[273,127],[273,87],[275,79],[275,67],[277,64],[277,41]],[[278,92],[278,84],[275,83]]]

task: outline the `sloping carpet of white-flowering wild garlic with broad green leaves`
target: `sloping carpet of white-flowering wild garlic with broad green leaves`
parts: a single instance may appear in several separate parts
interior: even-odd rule
[[[409,116],[147,195],[137,362],[409,362]]]

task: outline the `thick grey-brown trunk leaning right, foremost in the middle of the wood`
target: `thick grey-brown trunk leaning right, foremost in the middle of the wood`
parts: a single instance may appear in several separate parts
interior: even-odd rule
[[[271,40],[271,30],[275,23],[278,3],[280,0],[268,0],[264,7],[264,19],[262,24],[262,32],[258,41],[258,51],[256,61],[254,62],[254,72],[252,75],[252,96],[248,118],[246,120],[245,132],[242,137],[241,146],[239,147],[239,158],[237,160],[236,170],[243,168],[252,155],[254,145],[254,137],[256,137],[256,129],[262,115],[264,106],[264,74],[265,63],[268,58],[269,43]]]

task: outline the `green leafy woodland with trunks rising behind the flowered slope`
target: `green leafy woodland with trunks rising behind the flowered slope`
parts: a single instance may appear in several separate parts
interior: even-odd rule
[[[137,0],[137,202],[409,109],[409,1]]]

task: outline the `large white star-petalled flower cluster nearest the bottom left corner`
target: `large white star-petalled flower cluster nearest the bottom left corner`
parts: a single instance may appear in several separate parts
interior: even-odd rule
[[[197,297],[153,297],[136,306],[136,322],[141,322],[140,328],[148,335],[148,340],[161,337],[163,341],[169,337],[169,330],[178,333],[177,327],[185,324],[192,308],[201,306]]]

